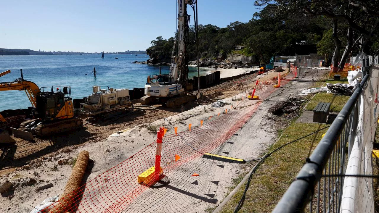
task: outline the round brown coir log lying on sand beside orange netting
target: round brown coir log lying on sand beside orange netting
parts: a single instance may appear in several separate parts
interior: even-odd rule
[[[71,211],[71,205],[77,201],[81,180],[83,179],[84,172],[87,169],[89,160],[89,153],[87,151],[81,151],[76,160],[75,166],[72,169],[71,176],[67,181],[66,188],[62,198],[58,201],[50,213],[65,213]]]

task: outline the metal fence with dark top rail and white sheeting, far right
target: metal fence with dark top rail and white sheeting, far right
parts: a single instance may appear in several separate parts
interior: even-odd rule
[[[371,152],[378,117],[379,66],[366,73],[365,62],[360,64],[360,85],[307,158],[274,213],[374,212]]]

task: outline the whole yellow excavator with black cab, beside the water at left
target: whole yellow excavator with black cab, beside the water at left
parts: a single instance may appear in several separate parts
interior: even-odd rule
[[[0,77],[8,74],[10,70],[5,72],[0,73]],[[33,119],[22,122],[19,129],[11,128],[15,137],[33,140],[33,135],[48,136],[77,129],[83,125],[82,119],[74,117],[70,86],[38,88],[35,83],[23,79],[21,70],[21,78],[0,83],[0,91],[9,90],[25,91],[32,105]],[[0,115],[0,129],[4,126],[2,123],[6,123],[6,119]]]

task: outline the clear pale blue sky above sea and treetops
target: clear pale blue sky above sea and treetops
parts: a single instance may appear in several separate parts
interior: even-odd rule
[[[0,48],[145,50],[157,36],[172,37],[176,28],[176,0],[0,0],[0,5]],[[218,27],[247,22],[258,11],[254,0],[199,0],[198,9],[199,24]]]

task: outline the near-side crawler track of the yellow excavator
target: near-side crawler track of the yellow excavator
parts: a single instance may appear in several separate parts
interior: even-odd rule
[[[77,117],[64,119],[53,123],[39,124],[34,132],[38,136],[53,135],[61,132],[67,132],[80,128],[83,125],[83,120]]]

